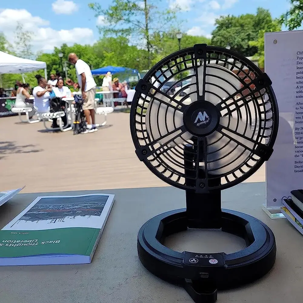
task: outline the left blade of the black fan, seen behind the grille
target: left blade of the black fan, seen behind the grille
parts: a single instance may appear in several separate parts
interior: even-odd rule
[[[172,102],[169,98],[165,97],[160,93],[156,93],[155,97],[157,99],[163,100],[171,105],[176,106],[177,103]],[[159,142],[160,144],[165,144],[169,142],[172,138],[174,138],[178,133],[181,133],[181,130],[176,130],[183,125],[183,113],[178,110],[167,106],[164,103],[161,103],[156,99],[152,99],[146,110],[146,130],[150,135],[151,139],[155,142]],[[165,136],[169,132],[173,132],[172,134]],[[165,136],[164,138],[161,138]],[[170,146],[175,146],[183,143],[185,140],[189,140],[192,135],[189,132],[185,132],[182,136],[176,138],[174,141],[170,142]],[[159,140],[159,138],[161,138]]]

